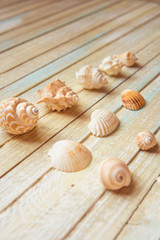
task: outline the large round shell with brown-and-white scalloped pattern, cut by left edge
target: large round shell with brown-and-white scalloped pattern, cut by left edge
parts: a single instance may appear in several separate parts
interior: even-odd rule
[[[38,121],[38,109],[21,98],[0,102],[0,126],[11,134],[23,134],[32,130]]]

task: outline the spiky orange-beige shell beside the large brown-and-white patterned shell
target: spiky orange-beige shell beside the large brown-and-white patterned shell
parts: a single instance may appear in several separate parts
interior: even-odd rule
[[[38,90],[41,99],[37,103],[45,102],[49,109],[62,111],[75,105],[79,97],[71,88],[59,79],[49,83],[43,90]]]

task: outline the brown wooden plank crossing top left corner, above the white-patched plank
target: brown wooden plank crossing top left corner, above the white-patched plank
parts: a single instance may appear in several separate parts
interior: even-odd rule
[[[0,20],[7,19],[21,13],[25,14],[27,11],[45,6],[51,1],[54,0],[28,0],[17,2],[13,5],[7,6],[6,8],[0,9]]]

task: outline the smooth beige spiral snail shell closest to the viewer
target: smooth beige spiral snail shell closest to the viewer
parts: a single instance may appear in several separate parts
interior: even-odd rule
[[[102,162],[100,179],[109,190],[117,190],[131,183],[131,173],[128,166],[117,158],[109,158]]]

